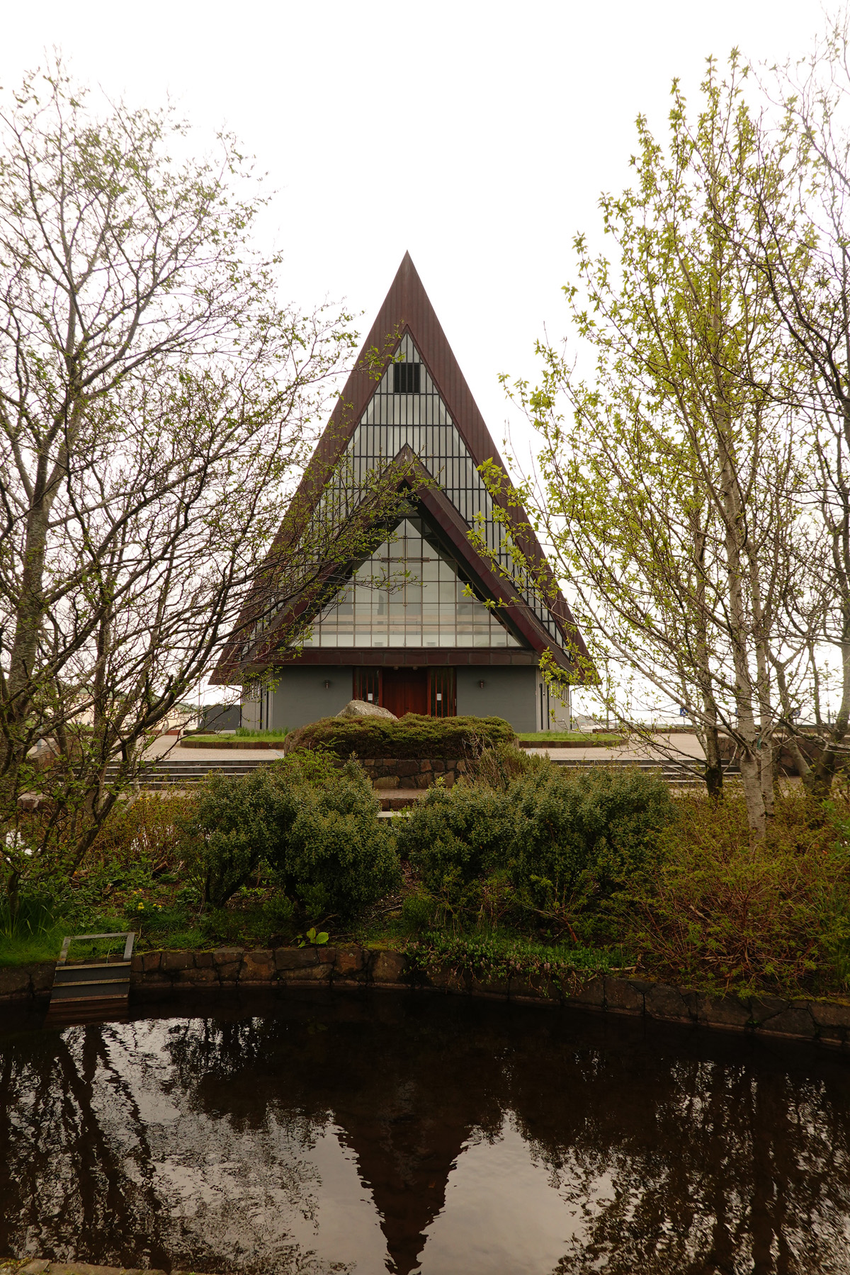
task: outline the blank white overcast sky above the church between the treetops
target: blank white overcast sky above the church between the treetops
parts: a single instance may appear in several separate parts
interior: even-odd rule
[[[637,112],[663,133],[673,76],[802,56],[823,26],[805,0],[6,0],[0,84],[55,46],[110,96],[169,94],[199,150],[233,130],[275,191],[284,295],[347,298],[363,335],[409,249],[501,442],[498,374],[565,334],[572,237],[628,182]]]

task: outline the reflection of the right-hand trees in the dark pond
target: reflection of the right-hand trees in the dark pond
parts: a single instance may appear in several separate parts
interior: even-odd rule
[[[558,1275],[850,1267],[846,1066],[816,1077],[723,1052],[573,1054],[554,1112],[514,1070],[519,1128],[584,1218]]]

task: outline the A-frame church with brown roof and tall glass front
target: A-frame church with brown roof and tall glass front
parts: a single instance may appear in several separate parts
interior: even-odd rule
[[[340,462],[349,500],[352,474],[385,473],[398,478],[403,504],[380,525],[372,544],[381,543],[342,567],[338,557],[324,588],[284,604],[261,603],[255,588],[212,678],[242,685],[243,725],[294,728],[359,699],[398,717],[568,727],[570,686],[587,676],[587,653],[522,510],[494,510],[478,468],[488,459],[503,470],[405,254],[269,561],[287,557],[329,486],[339,488]],[[296,641],[285,623],[294,615]],[[540,674],[545,652],[563,671],[557,694]]]

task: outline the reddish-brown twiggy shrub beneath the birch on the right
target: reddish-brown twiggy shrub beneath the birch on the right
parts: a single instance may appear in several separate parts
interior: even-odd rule
[[[677,805],[675,830],[661,835],[641,890],[633,942],[646,964],[716,991],[850,989],[850,852],[841,825],[803,792],[784,792],[766,840],[751,844],[743,794],[717,805],[688,794]]]

